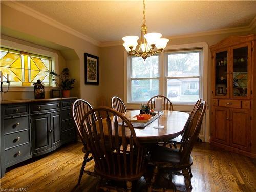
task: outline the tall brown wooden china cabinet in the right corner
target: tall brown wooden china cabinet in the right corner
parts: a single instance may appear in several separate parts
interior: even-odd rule
[[[212,145],[256,158],[256,35],[210,47]]]

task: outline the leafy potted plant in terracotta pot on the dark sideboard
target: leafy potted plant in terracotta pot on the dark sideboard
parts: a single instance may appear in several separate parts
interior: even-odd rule
[[[75,83],[75,79],[69,79],[69,69],[64,68],[60,75],[58,75],[54,70],[50,71],[49,74],[52,75],[52,81],[55,81],[57,86],[62,90],[62,96],[69,97],[70,90],[74,88],[73,84]]]

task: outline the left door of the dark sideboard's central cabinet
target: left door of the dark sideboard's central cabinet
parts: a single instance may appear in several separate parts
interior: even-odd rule
[[[32,153],[51,148],[51,119],[50,114],[31,116]]]

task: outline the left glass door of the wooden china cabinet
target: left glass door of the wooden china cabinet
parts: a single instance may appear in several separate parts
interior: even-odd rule
[[[215,97],[227,98],[228,97],[228,50],[216,52],[214,57],[215,63]]]

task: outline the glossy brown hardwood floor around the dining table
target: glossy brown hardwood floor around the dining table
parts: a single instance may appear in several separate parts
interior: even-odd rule
[[[84,174],[76,187],[83,161],[81,143],[66,145],[45,156],[36,157],[12,167],[1,179],[1,191],[95,191],[97,178]],[[256,191],[256,160],[197,144],[193,150],[193,191]],[[94,162],[86,168],[93,170]],[[184,191],[182,176],[174,176],[178,190]]]

